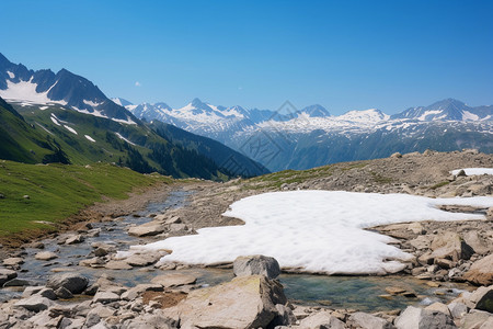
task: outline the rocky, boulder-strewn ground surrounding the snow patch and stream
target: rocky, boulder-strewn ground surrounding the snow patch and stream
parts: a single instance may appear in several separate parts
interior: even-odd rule
[[[186,206],[150,214],[147,223],[129,225],[127,229],[129,235],[151,241],[195,234],[202,227],[241,225],[239,219],[221,216],[232,202],[279,190],[491,196],[492,175],[449,173],[471,167],[491,168],[493,156],[475,150],[425,151],[228,183],[196,181],[180,185],[193,192]],[[149,198],[162,198],[176,188],[162,186],[135,194],[129,201],[96,205],[88,209],[90,216],[81,213],[70,220],[70,227],[77,231],[53,238],[57,243],[80,243],[100,232],[91,222],[115,220],[141,208]],[[117,254],[112,245],[99,243],[92,246],[80,265],[121,271],[153,266],[157,275],[148,283],[125,286],[110,275],[90,282],[81,274],[60,270],[43,285],[33,286],[16,279],[24,261],[22,249],[9,249],[1,257],[0,285],[27,286],[23,287],[22,298],[0,304],[0,328],[493,328],[493,209],[452,206],[445,209],[484,213],[488,219],[404,223],[372,229],[394,237],[401,249],[414,254],[402,275],[422,279],[429,286],[448,281],[471,284],[471,293],[462,293],[448,305],[435,303],[425,308],[410,306],[376,314],[294,305],[275,280],[279,270],[270,258],[218,264],[232,268],[237,276],[231,282],[204,288],[196,284],[195,276],[181,271],[186,265],[160,264],[158,261],[167,251],[126,257]],[[35,256],[38,260],[48,262],[58,257],[41,249],[39,243],[28,247],[39,248]],[[413,294],[399,286],[389,286],[387,293],[388,297]]]

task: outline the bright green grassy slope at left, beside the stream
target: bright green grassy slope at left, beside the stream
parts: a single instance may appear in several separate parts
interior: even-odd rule
[[[108,163],[25,164],[0,160],[0,237],[28,229],[50,229],[102,196],[125,198],[134,188],[172,182]],[[28,195],[28,197],[24,197]]]

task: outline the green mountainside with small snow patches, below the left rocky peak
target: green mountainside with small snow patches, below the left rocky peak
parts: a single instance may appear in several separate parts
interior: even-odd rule
[[[59,145],[74,164],[103,161],[174,178],[229,177],[211,159],[167,140],[142,124],[122,124],[59,105],[14,104],[14,107],[38,135]]]

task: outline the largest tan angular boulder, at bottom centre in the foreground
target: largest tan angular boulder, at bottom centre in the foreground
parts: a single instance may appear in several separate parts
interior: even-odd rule
[[[283,286],[263,275],[239,276],[193,291],[164,314],[182,328],[265,328],[286,304]]]

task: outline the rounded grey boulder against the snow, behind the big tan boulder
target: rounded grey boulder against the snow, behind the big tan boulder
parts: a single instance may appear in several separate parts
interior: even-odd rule
[[[280,274],[280,268],[277,260],[272,257],[240,256],[233,262],[233,272],[237,276],[264,275],[268,279],[276,279]]]

